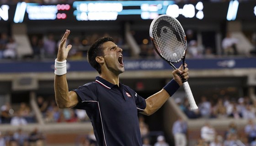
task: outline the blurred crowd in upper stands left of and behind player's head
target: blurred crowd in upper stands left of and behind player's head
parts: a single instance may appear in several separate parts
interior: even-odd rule
[[[21,59],[48,59],[55,58],[57,55],[60,36],[48,33],[46,35],[30,35],[30,45],[32,47],[32,54],[21,56]],[[69,37],[66,45],[72,45],[72,49],[69,52],[69,58],[79,60],[86,58],[87,50],[96,39],[102,36],[109,36],[109,34],[92,34],[86,36]],[[124,45],[122,37],[119,35],[112,35],[117,45]],[[124,48],[125,50],[126,48]],[[128,56],[129,52],[124,51],[124,56]],[[12,59],[18,58],[17,43],[12,36],[7,33],[0,34],[0,59]]]

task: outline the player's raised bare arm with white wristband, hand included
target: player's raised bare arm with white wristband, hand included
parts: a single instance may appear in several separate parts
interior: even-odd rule
[[[63,35],[55,60],[55,77],[54,77],[54,92],[55,100],[59,108],[71,108],[78,104],[78,96],[75,91],[69,91],[68,82],[66,79],[66,59],[72,45],[66,46],[66,40],[70,30],[66,30]]]

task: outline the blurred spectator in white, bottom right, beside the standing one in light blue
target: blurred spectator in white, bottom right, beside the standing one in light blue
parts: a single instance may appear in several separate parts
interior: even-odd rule
[[[201,127],[201,138],[206,141],[207,143],[210,143],[214,141],[216,136],[216,131],[213,126],[209,122],[206,122],[203,127]]]

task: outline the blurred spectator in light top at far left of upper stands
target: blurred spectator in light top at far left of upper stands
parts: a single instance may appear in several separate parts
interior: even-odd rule
[[[16,41],[10,37],[8,43],[6,44],[6,48],[3,51],[4,58],[7,59],[15,59],[17,57],[17,44]]]

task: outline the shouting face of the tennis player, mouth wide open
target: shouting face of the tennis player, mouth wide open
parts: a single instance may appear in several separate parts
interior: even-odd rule
[[[112,41],[107,41],[102,44],[104,52],[104,63],[108,70],[119,75],[124,71],[122,49]]]

